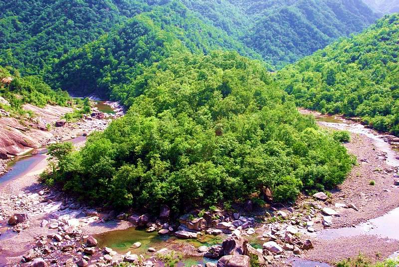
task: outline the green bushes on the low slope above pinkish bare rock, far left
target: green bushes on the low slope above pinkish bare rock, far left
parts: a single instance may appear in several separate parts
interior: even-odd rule
[[[18,111],[22,105],[29,103],[38,107],[46,104],[65,106],[70,97],[65,91],[53,91],[38,76],[21,77],[11,67],[0,66],[0,96],[7,104],[0,104],[2,109]]]

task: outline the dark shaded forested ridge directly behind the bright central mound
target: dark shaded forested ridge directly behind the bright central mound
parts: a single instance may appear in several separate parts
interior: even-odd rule
[[[174,11],[178,7],[179,11]],[[169,16],[164,16],[165,12]],[[129,19],[97,41],[72,50],[56,61],[46,79],[54,88],[75,95],[93,92],[105,97],[112,95],[114,100],[130,106],[128,94],[132,94],[126,92],[126,84],[141,74],[143,68],[168,57],[171,51],[202,54],[229,47],[226,38],[193,17],[182,5],[174,9],[154,8]],[[229,48],[246,54],[239,44]]]

